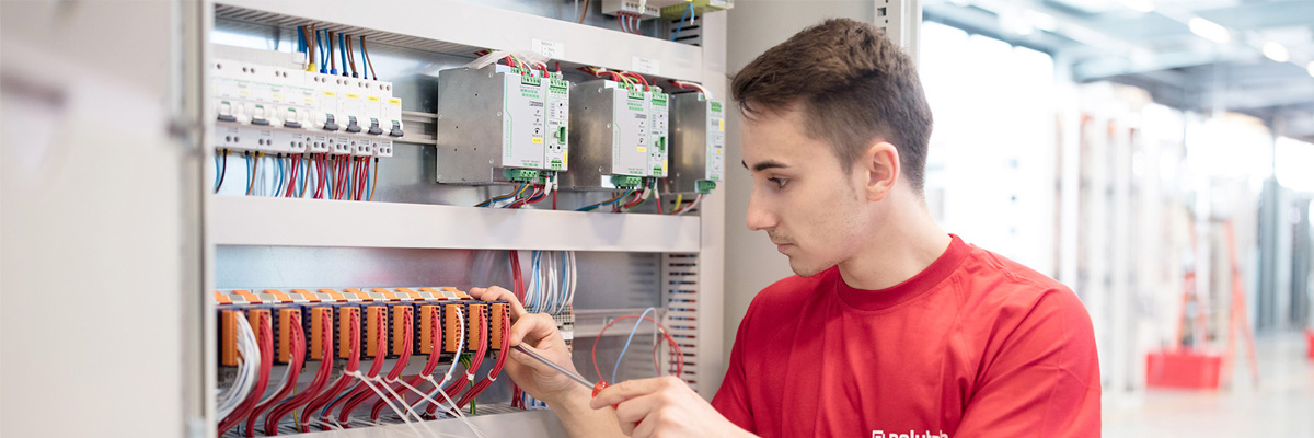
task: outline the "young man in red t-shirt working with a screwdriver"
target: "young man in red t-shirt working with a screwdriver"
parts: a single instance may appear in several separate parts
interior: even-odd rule
[[[1100,434],[1077,297],[932,220],[932,117],[908,55],[871,25],[829,20],[758,57],[732,91],[753,175],[748,226],[798,276],[753,300],[711,404],[670,376],[591,399],[512,353],[511,377],[572,437]],[[552,318],[514,312],[511,343],[573,368]]]

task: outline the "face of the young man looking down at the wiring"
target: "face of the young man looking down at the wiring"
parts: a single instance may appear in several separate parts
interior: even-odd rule
[[[866,234],[861,167],[841,168],[827,141],[805,134],[798,110],[742,121],[744,166],[753,174],[748,228],[765,230],[800,276],[851,256]]]

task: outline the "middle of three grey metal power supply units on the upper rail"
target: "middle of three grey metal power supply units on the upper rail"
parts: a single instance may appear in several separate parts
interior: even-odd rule
[[[652,176],[649,93],[640,85],[591,80],[570,96],[570,171],[562,188],[636,187]]]

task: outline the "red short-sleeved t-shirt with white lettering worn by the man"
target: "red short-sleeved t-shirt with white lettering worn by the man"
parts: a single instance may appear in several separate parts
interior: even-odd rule
[[[1072,291],[954,235],[888,289],[763,289],[712,405],[762,437],[1099,437],[1099,367]]]

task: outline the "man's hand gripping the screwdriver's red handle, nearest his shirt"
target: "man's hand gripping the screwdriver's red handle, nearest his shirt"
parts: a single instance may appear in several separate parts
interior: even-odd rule
[[[620,431],[635,438],[753,437],[675,376],[618,383],[599,392],[589,406],[603,409],[616,404]]]

